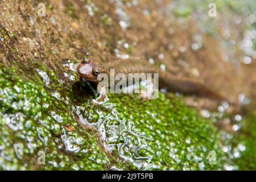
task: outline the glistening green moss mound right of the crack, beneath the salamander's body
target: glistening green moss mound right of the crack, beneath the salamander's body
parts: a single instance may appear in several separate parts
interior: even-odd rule
[[[169,100],[160,94],[157,100],[141,102],[134,95],[112,95],[110,101],[119,119],[105,126],[107,137],[109,133],[110,144],[122,143],[124,160],[140,164],[140,169],[221,168],[225,156],[216,129],[177,97]],[[113,139],[113,133],[119,138]],[[217,154],[216,165],[209,164],[211,151]]]

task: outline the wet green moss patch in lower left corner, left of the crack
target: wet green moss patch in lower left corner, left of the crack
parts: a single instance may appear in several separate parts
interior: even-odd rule
[[[6,68],[0,75],[1,169],[104,169],[96,138],[71,119],[64,102]],[[38,151],[46,165],[37,163]]]

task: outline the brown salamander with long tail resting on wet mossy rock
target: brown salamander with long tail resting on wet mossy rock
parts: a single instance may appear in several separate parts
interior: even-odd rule
[[[97,76],[100,73],[107,73],[109,77],[109,69],[111,68],[115,69],[115,74],[125,73],[127,76],[128,73],[159,73],[160,88],[166,88],[171,92],[208,97],[216,101],[226,101],[226,98],[213,92],[200,82],[195,82],[188,78],[177,79],[172,73],[164,72],[160,68],[143,60],[116,60],[110,63],[100,64],[92,57],[84,57],[82,63],[78,65],[77,73],[79,77],[97,85],[99,83]]]

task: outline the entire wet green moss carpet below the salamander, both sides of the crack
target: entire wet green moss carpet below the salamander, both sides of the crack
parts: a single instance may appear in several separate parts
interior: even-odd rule
[[[71,88],[53,96],[61,84],[52,72],[46,89],[15,76],[15,69],[1,67],[0,75],[2,169],[222,168],[216,129],[176,97],[141,102],[135,94],[109,94],[94,106],[92,94],[80,100]],[[38,151],[45,152],[46,165],[37,163]],[[215,165],[210,151],[217,154]]]

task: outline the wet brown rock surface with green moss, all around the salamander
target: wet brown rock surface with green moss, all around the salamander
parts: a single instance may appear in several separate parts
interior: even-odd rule
[[[241,28],[255,26],[252,10],[232,21],[205,13],[204,24],[183,1],[44,1],[38,16],[40,2],[0,1],[1,169],[255,169],[256,36]],[[148,60],[238,107],[172,93],[92,105],[75,73],[84,55]]]

